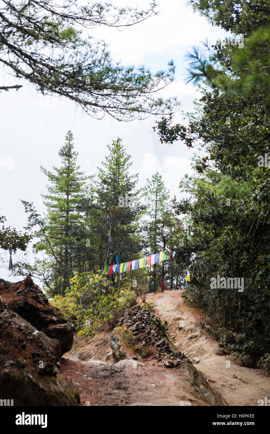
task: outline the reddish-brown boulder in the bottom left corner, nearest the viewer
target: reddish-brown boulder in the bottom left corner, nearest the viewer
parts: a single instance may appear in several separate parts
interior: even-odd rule
[[[56,363],[59,341],[39,332],[0,299],[0,398],[13,405],[78,405],[80,396]]]

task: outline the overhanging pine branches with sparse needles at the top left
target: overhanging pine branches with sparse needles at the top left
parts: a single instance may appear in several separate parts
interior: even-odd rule
[[[115,62],[104,40],[88,34],[97,26],[124,30],[155,14],[155,2],[139,10],[88,1],[78,5],[76,0],[7,0],[0,5],[0,62],[7,74],[28,80],[43,95],[72,100],[94,118],[107,113],[130,121],[167,114],[179,103],[157,98],[155,92],[174,79],[173,62],[166,71],[135,70]]]

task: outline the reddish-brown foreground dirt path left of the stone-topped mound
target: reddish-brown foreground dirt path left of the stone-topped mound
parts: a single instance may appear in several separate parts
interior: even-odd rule
[[[179,369],[167,369],[158,362],[106,364],[71,356],[61,359],[61,371],[78,389],[81,405],[209,405],[189,390]]]

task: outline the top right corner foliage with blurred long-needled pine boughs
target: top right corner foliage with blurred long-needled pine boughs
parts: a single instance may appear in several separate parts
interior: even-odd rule
[[[198,49],[190,55],[192,60],[190,79],[205,81],[212,89],[245,97],[269,94],[269,36],[270,2],[247,2],[245,0],[190,1],[193,8],[209,21],[243,36],[240,46],[213,45],[208,56],[202,56]]]

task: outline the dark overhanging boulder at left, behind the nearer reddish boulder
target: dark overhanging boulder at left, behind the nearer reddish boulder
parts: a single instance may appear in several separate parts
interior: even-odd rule
[[[57,339],[61,346],[61,356],[72,348],[72,326],[59,309],[49,303],[29,276],[16,283],[0,279],[0,295],[10,310],[18,313],[37,330]]]

